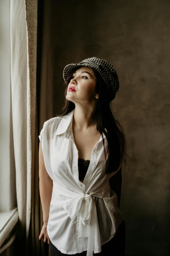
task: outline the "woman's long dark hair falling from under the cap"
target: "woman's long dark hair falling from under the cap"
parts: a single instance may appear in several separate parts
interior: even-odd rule
[[[72,110],[75,109],[75,104],[72,101],[66,99],[67,95],[67,88],[70,80],[72,79],[73,73],[82,66],[75,67],[72,72],[67,77],[66,83],[64,82],[65,86],[65,104],[62,108],[62,115],[56,114],[56,116],[65,116],[69,114]],[[106,159],[106,149],[105,149],[105,141],[103,138],[102,132],[106,135],[106,139],[108,142],[108,158],[106,160],[106,170],[105,173],[109,174],[111,172],[115,172],[118,170],[120,166],[121,156],[123,155],[125,140],[123,135],[123,128],[116,120],[112,113],[111,102],[109,103],[109,95],[107,94],[106,84],[103,78],[101,77],[100,73],[92,69],[94,75],[96,76],[96,87],[95,92],[99,95],[96,105],[93,112],[93,124],[97,124],[97,130],[102,135],[103,145],[104,145],[104,152],[105,152],[105,159]],[[106,132],[106,130],[107,132]],[[123,131],[123,132],[122,132]],[[125,162],[126,164],[126,162]]]

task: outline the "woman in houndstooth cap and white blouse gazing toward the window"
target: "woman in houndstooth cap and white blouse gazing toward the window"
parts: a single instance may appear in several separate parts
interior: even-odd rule
[[[64,113],[47,120],[39,135],[39,239],[48,241],[51,256],[124,255],[124,219],[109,186],[127,151],[110,104],[119,90],[117,73],[92,57],[66,65],[63,76]]]

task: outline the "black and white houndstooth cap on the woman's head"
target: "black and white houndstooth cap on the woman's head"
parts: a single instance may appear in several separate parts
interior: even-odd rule
[[[115,98],[116,92],[119,90],[119,80],[114,66],[109,61],[92,57],[79,63],[68,64],[65,66],[63,71],[65,82],[72,70],[77,66],[86,66],[96,69],[106,83],[109,102]]]

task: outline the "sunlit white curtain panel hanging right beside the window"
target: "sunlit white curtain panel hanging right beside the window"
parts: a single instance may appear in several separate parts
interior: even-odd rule
[[[28,238],[31,215],[32,165],[30,76],[24,0],[10,1],[10,41],[12,123],[17,206],[20,220],[18,239],[22,241],[21,247],[24,249],[26,247],[25,238]]]

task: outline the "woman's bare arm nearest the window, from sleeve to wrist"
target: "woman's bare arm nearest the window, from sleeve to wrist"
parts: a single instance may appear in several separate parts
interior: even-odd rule
[[[50,201],[52,196],[53,182],[47,173],[44,156],[42,153],[41,158],[41,141],[39,144],[39,192],[43,210],[43,222],[44,224],[48,223],[49,212],[50,212]]]

